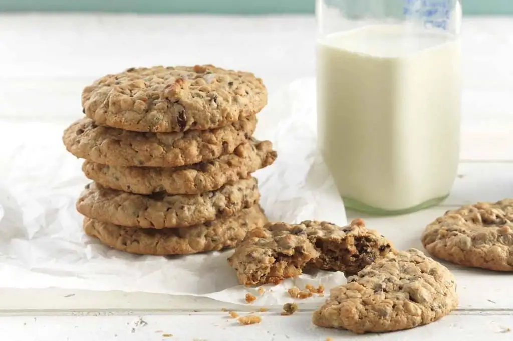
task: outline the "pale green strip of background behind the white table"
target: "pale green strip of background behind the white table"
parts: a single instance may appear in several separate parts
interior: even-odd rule
[[[314,0],[0,0],[0,11],[204,14],[313,13]],[[466,15],[513,15],[513,0],[463,0]]]

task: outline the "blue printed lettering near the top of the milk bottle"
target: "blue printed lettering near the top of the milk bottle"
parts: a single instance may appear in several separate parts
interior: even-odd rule
[[[426,28],[447,30],[453,5],[454,0],[404,0],[403,14]]]

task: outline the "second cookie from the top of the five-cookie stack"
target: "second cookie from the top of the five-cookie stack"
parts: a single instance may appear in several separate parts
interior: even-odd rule
[[[232,154],[257,126],[250,116],[220,129],[185,133],[137,133],[98,126],[86,118],[63,135],[68,152],[77,158],[110,166],[180,167]]]

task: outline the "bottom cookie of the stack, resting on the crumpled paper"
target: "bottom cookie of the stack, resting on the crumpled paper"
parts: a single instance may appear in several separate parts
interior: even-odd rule
[[[84,218],[86,235],[134,254],[179,255],[221,251],[238,245],[246,233],[267,222],[259,205],[231,217],[184,228],[141,229]]]

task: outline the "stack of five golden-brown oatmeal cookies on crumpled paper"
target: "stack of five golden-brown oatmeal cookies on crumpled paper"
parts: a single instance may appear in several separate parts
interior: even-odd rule
[[[267,222],[251,176],[277,157],[252,137],[266,102],[253,74],[213,66],[128,69],[85,88],[87,118],[63,142],[93,181],[76,204],[86,234],[136,254],[237,246]]]

